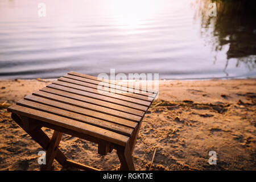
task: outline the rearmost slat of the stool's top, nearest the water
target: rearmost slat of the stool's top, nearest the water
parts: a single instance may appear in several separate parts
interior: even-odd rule
[[[100,84],[100,82],[102,82],[102,81],[99,81],[99,80],[92,80],[92,79],[89,79],[89,78],[79,77],[79,76],[70,75],[70,74],[64,75],[63,77],[71,78],[73,80],[88,82],[88,83],[95,84],[95,85],[98,85],[98,84]],[[146,91],[142,91],[142,90],[139,90],[139,89],[129,88],[129,86],[128,87],[123,86],[121,83],[119,83],[115,80],[112,81],[112,82],[110,80],[108,80],[108,82],[104,81],[104,83],[107,83],[109,88],[118,89],[118,90],[122,90],[122,91],[125,91],[125,92],[130,91],[131,93],[135,93],[135,94],[138,94],[138,95],[141,95],[141,96],[154,97],[154,94],[152,94],[152,93],[148,93]]]

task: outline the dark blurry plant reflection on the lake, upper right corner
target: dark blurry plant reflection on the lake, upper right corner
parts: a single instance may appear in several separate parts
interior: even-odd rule
[[[212,2],[217,5],[216,17],[208,15]],[[233,58],[237,58],[236,67],[243,63],[250,71],[256,68],[256,1],[200,0],[193,6],[197,9],[196,17],[201,18],[201,35],[213,50],[218,52],[225,45],[229,46],[224,68],[227,76],[226,68]]]

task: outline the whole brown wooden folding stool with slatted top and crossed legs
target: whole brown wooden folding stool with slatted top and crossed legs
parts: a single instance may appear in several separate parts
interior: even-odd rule
[[[99,92],[100,82],[108,84],[108,92]],[[120,169],[135,170],[134,145],[144,114],[158,93],[142,92],[143,88],[137,89],[139,93],[130,93],[120,85],[70,72],[8,108],[13,120],[46,150],[42,170],[51,169],[54,159],[64,168],[97,170],[69,160],[59,150],[63,133],[98,143],[101,155],[117,150]],[[113,89],[122,92],[113,93]],[[42,127],[54,130],[51,139]]]

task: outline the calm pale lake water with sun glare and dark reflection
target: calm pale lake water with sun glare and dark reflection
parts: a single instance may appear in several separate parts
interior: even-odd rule
[[[0,0],[0,78],[111,68],[167,79],[255,78],[255,1],[218,1],[216,17],[210,2]]]

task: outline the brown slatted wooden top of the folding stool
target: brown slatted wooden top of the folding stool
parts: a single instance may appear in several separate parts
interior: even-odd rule
[[[102,93],[97,90],[100,81],[115,88],[113,81],[70,72],[8,110],[125,146],[130,137],[137,138],[134,130],[152,102],[148,96],[154,98],[155,93]]]

